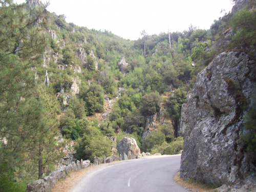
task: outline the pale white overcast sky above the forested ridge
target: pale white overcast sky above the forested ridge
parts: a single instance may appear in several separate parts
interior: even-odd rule
[[[232,6],[231,0],[50,0],[48,10],[65,14],[68,23],[137,40],[142,30],[158,35],[168,29],[188,30],[190,24],[209,29]],[[220,13],[221,10],[225,11]]]

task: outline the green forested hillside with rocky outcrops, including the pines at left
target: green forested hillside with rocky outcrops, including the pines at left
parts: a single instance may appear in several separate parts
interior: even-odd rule
[[[25,190],[29,181],[48,175],[71,140],[77,159],[116,153],[113,136],[119,141],[125,135],[144,152],[177,154],[181,104],[198,72],[222,51],[255,46],[255,14],[246,10],[215,20],[210,30],[188,26],[148,35],[142,29],[132,41],[67,23],[39,1],[0,3],[5,191]]]

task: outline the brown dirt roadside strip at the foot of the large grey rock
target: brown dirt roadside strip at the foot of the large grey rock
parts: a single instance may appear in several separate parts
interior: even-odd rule
[[[180,178],[180,172],[178,172],[175,176],[174,176],[174,181],[176,183],[178,183],[179,185],[183,186],[185,189],[189,190],[189,191],[194,191],[194,192],[207,192],[207,191],[217,191],[215,190],[215,188],[217,186],[211,186],[211,185],[206,185],[206,184],[201,184],[201,183],[196,183],[193,181],[185,181],[183,179]]]

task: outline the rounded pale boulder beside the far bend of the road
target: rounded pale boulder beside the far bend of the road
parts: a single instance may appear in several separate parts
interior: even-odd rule
[[[117,143],[117,150],[118,153],[124,157],[130,155],[137,155],[140,153],[140,148],[137,145],[137,142],[134,138],[131,137],[124,137]]]

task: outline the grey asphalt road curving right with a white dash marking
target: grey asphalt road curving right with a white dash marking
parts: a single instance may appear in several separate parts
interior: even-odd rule
[[[99,166],[71,189],[71,192],[162,192],[188,191],[176,184],[181,155],[151,156]]]

